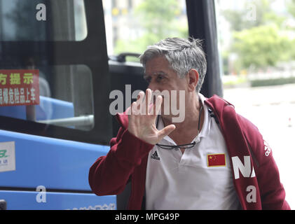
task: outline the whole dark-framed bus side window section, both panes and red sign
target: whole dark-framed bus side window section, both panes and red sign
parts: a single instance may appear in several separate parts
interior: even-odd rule
[[[103,21],[100,1],[0,0],[0,129],[108,144]]]

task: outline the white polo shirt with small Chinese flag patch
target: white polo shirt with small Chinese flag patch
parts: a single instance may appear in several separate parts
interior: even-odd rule
[[[163,149],[158,146],[154,146],[149,153],[146,209],[240,208],[224,137],[214,118],[210,117],[204,104],[205,97],[202,94],[199,97],[204,106],[205,118],[200,134],[193,139],[195,146],[187,148],[184,154],[179,148]],[[159,118],[158,130],[163,127],[163,121]],[[159,144],[176,145],[168,136]],[[221,154],[221,162],[208,162],[215,159],[214,155],[217,154]]]

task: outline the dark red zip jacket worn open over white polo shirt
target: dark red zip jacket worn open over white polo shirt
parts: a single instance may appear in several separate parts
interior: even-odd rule
[[[224,135],[242,209],[290,209],[272,152],[259,130],[221,97],[214,95],[205,104],[213,111]],[[90,188],[96,195],[118,195],[131,180],[128,209],[141,209],[146,163],[153,145],[128,132],[127,115],[117,118],[121,128],[111,139],[109,153],[90,168]]]

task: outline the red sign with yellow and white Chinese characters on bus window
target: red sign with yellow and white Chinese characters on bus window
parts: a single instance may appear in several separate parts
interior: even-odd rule
[[[0,106],[39,104],[39,70],[0,70]]]

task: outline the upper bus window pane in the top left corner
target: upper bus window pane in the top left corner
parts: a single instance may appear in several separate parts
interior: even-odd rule
[[[86,36],[84,1],[0,0],[1,41],[82,41]]]

